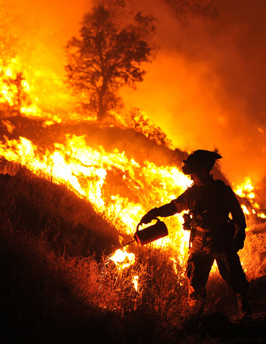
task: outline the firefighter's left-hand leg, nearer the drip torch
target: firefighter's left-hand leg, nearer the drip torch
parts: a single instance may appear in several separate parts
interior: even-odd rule
[[[190,254],[185,273],[188,279],[188,304],[190,307],[205,304],[207,298],[206,284],[213,261],[214,258],[203,251]]]

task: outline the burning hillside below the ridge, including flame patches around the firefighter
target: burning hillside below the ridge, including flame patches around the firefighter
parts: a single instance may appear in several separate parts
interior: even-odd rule
[[[110,224],[117,224],[127,238],[133,236],[147,210],[175,199],[191,185],[180,172],[186,153],[158,145],[132,129],[86,122],[47,125],[15,116],[2,120],[1,132],[2,172],[10,173],[7,166],[12,162],[54,183],[66,184]],[[214,174],[224,179],[219,170]],[[265,210],[256,201],[250,181],[244,181],[235,192],[247,216],[248,230],[264,229]],[[171,248],[173,259],[183,265],[188,237],[182,215],[167,218],[169,235],[152,245]],[[243,252],[241,259],[248,270],[250,260],[244,257]]]

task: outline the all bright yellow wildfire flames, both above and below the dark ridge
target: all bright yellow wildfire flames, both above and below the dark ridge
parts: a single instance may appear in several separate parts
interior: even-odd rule
[[[62,118],[58,115],[42,110],[41,101],[36,95],[37,78],[30,81],[27,72],[21,75],[21,70],[22,63],[19,57],[11,59],[6,65],[0,62],[0,103],[2,106],[14,107],[15,96],[20,88],[20,94],[30,95],[30,100],[21,102],[20,114],[26,117],[42,117],[46,120],[43,122],[44,128],[53,125],[54,122],[62,122]],[[39,74],[44,75],[41,71]],[[60,84],[56,76],[53,79],[56,85]],[[13,83],[8,83],[8,80],[13,80]],[[17,82],[14,82],[15,80]],[[67,96],[64,100],[70,102]],[[79,115],[72,112],[68,118],[76,120]],[[13,133],[15,128],[8,120],[2,119],[1,123],[9,134]],[[20,137],[19,140],[4,137],[0,142],[0,156],[9,162],[26,166],[33,173],[42,173],[55,183],[67,185],[80,197],[90,201],[109,222],[115,224],[119,219],[124,224],[121,230],[128,235],[133,235],[137,223],[147,210],[175,199],[191,184],[191,180],[177,167],[156,166],[148,160],[140,166],[133,159],[128,159],[125,152],[115,149],[110,153],[106,152],[102,146],[97,148],[88,146],[85,135],[66,134],[64,143],[54,142],[53,148],[46,147],[45,149],[40,149],[25,137]],[[118,193],[103,196],[106,176],[112,171],[118,171],[121,178],[132,185],[136,194],[141,195],[145,190],[149,194],[147,204],[141,201],[130,201]],[[246,215],[252,213],[260,218],[266,218],[259,204],[254,201],[255,192],[250,178],[246,178],[244,183],[237,186],[234,191],[240,198],[250,201],[249,208],[246,204],[241,204]],[[165,219],[170,229],[169,235],[150,244],[153,247],[160,247],[161,250],[171,247],[174,253],[171,259],[176,274],[178,274],[177,264],[183,266],[186,261],[189,237],[189,232],[184,232],[182,228],[182,215],[176,214],[171,219]],[[124,269],[135,262],[135,255],[123,248],[123,250],[118,249],[109,259],[119,269]],[[213,269],[216,269],[215,266]],[[137,276],[134,276],[133,284],[137,291]]]

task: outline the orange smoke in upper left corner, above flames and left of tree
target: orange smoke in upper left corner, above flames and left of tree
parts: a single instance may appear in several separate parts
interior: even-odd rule
[[[62,75],[63,47],[80,29],[84,12],[91,9],[89,1],[76,0],[10,0],[0,1],[3,11],[12,15],[9,32],[19,36],[18,52],[32,70],[40,64]],[[11,13],[12,12],[12,13]],[[11,28],[12,25],[12,28]]]

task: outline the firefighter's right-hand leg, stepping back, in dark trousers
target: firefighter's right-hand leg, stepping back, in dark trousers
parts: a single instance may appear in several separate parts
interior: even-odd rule
[[[230,251],[216,258],[219,272],[227,284],[238,294],[239,319],[250,314],[246,275],[242,269],[239,255]]]

